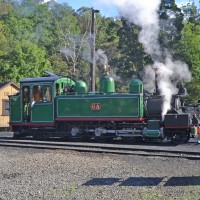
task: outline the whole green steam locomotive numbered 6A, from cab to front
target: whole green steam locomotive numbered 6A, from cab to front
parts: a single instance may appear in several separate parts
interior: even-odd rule
[[[98,93],[85,82],[49,73],[20,81],[20,93],[10,97],[10,125],[14,137],[85,137],[168,139],[187,142],[190,115],[180,112],[179,95],[162,119],[163,98],[143,93],[133,79],[129,93],[116,93],[114,80],[104,75]]]

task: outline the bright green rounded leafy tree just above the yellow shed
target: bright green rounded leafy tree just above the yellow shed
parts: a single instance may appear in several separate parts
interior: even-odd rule
[[[40,76],[50,70],[44,49],[26,40],[15,42],[7,59],[1,63],[1,76],[19,82],[25,77]]]

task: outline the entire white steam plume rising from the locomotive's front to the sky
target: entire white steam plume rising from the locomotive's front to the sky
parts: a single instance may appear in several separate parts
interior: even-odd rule
[[[145,67],[144,86],[150,92],[155,89],[156,71],[158,88],[164,96],[162,114],[166,114],[170,108],[172,95],[177,94],[177,82],[190,81],[191,73],[185,63],[174,61],[167,50],[161,51],[158,40],[160,32],[158,10],[161,0],[98,0],[98,3],[116,6],[123,17],[141,27],[138,40],[154,62],[152,66]]]

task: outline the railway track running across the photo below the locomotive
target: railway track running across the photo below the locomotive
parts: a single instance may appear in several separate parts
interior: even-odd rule
[[[18,148],[37,148],[50,150],[73,150],[91,153],[111,153],[122,155],[178,157],[200,159],[200,146],[193,145],[125,145],[82,142],[13,140],[1,138],[0,146]]]

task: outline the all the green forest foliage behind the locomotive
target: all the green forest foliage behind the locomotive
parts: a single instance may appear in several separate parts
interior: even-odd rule
[[[170,17],[170,13],[175,13]],[[192,81],[186,83],[189,100],[200,99],[200,18],[195,5],[170,6],[162,0],[159,10],[159,43],[176,60],[187,63]],[[96,76],[103,64],[110,66],[118,91],[126,91],[133,76],[141,78],[152,58],[138,42],[140,27],[123,17],[96,14]],[[35,0],[0,0],[0,81],[19,82],[49,70],[82,79],[89,84],[91,61],[91,9],[77,11],[68,4]]]

